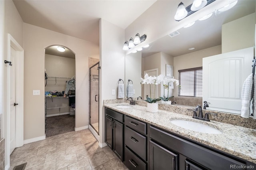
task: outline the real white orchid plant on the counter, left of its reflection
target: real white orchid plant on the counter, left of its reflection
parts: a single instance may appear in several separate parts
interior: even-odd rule
[[[145,100],[148,103],[156,103],[157,101],[160,101],[161,99],[155,98],[155,92],[156,92],[156,85],[160,84],[156,76],[148,76],[148,74],[145,74],[144,79],[141,78],[141,84],[149,84],[150,89],[150,97],[147,97]],[[154,85],[154,97],[151,97],[151,85]]]

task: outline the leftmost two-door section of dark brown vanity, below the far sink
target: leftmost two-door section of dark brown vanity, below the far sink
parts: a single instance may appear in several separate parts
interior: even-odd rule
[[[123,161],[123,114],[108,108],[105,109],[105,114],[105,142]]]

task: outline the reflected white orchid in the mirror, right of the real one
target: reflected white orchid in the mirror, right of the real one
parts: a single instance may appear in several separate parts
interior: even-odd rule
[[[172,77],[164,76],[162,74],[158,75],[157,79],[164,86],[164,96],[163,97],[159,97],[159,98],[162,101],[168,101],[169,99],[174,97],[174,96],[169,97],[170,83],[174,83],[175,82],[176,85],[178,86],[179,85],[179,81],[176,80],[176,79],[173,79]],[[167,89],[167,97],[165,97],[165,89]]]

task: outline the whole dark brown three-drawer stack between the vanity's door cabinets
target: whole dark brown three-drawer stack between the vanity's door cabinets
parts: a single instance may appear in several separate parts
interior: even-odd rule
[[[125,116],[125,165],[130,170],[147,169],[146,123]]]

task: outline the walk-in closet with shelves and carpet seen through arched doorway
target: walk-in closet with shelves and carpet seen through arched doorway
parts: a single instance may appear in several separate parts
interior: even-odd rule
[[[74,131],[76,112],[75,54],[54,45],[45,49],[46,137]]]

